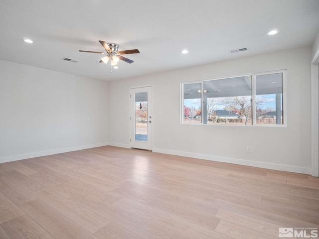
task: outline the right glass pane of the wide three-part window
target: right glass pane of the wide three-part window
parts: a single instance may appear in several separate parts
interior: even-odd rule
[[[283,124],[283,73],[256,76],[256,123]]]

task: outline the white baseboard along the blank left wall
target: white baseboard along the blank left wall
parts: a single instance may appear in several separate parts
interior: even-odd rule
[[[95,143],[95,144],[86,144],[86,145],[75,146],[70,148],[59,148],[59,149],[53,149],[53,150],[47,150],[47,151],[41,151],[41,152],[33,152],[33,153],[12,155],[7,157],[0,157],[0,163],[11,162],[11,161],[27,159],[27,158],[42,157],[42,156],[47,156],[47,155],[52,155],[57,153],[66,153],[71,151],[87,149],[87,148],[96,148],[96,147],[107,146],[107,145],[109,145],[108,142],[103,142],[103,143]]]

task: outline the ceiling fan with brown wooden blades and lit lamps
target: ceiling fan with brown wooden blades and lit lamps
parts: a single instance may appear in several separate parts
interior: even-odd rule
[[[119,60],[125,61],[127,63],[133,63],[134,61],[122,56],[124,54],[134,54],[134,53],[140,53],[138,49],[132,49],[132,50],[125,50],[125,51],[118,51],[119,45],[115,43],[108,43],[105,41],[99,41],[101,45],[104,47],[106,52],[98,52],[98,51],[82,51],[79,50],[80,52],[89,52],[89,53],[97,53],[97,54],[104,54],[104,56],[99,62],[104,62],[105,64],[108,63],[109,59],[110,60],[110,69],[111,66],[115,66],[118,64]]]

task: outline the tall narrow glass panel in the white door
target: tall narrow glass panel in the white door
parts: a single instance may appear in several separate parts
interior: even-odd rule
[[[135,93],[135,141],[148,141],[148,93]]]

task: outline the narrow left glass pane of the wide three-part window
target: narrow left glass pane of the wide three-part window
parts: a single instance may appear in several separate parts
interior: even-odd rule
[[[184,123],[201,123],[201,83],[184,84]]]

